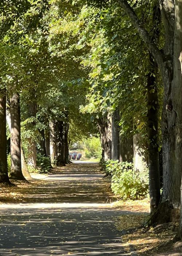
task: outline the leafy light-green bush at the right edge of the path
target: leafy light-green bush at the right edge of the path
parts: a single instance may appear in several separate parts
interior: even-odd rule
[[[106,173],[108,172],[111,173],[112,192],[121,199],[143,199],[148,193],[147,173],[135,173],[132,163],[108,160]]]

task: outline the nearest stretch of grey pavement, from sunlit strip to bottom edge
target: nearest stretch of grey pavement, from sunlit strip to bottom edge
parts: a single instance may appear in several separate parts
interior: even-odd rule
[[[114,228],[113,217],[120,211],[49,206],[1,208],[0,255],[129,255]]]

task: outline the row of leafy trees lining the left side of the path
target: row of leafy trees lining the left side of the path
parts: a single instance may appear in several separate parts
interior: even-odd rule
[[[48,1],[0,4],[0,182],[25,180],[28,169],[37,167],[37,154],[57,164],[68,162],[68,144],[91,129],[94,133],[90,116],[79,113],[86,89],[67,87],[68,79],[82,71],[69,54],[61,58],[53,49],[51,8]]]

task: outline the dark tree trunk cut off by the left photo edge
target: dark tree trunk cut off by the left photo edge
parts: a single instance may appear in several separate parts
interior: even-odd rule
[[[6,91],[0,90],[0,182],[10,184],[7,164]]]

